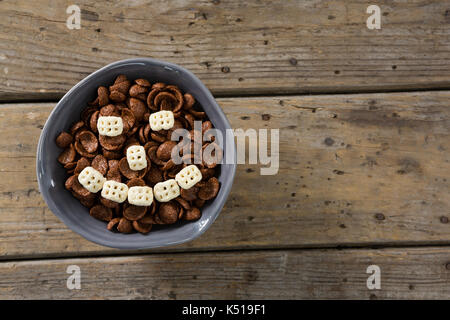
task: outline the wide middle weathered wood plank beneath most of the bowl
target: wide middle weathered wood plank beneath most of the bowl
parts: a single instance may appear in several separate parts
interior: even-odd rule
[[[163,250],[450,243],[450,92],[218,99],[279,128],[280,169],[239,165],[199,239]],[[0,105],[0,256],[105,254],[45,206],[35,152],[53,104]]]

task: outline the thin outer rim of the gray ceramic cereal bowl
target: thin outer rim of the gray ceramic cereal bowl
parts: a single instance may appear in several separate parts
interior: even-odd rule
[[[115,62],[109,63],[109,64],[101,67],[100,69],[97,69],[96,71],[90,73],[85,78],[83,78],[82,80],[77,82],[74,86],[72,86],[72,88],[70,88],[69,91],[67,91],[64,94],[64,96],[58,101],[56,106],[50,112],[47,120],[45,121],[45,124],[41,131],[41,134],[39,136],[39,141],[38,141],[37,150],[36,150],[36,153],[37,153],[36,154],[36,177],[37,177],[39,192],[41,193],[41,195],[42,195],[45,203],[49,207],[50,211],[52,211],[52,213],[56,217],[58,217],[58,219],[61,220],[67,226],[67,228],[69,228],[73,232],[79,234],[83,238],[85,238],[93,243],[102,245],[102,246],[115,248],[115,249],[139,250],[139,249],[151,249],[151,248],[161,248],[161,247],[166,247],[166,246],[174,246],[174,245],[182,244],[182,243],[185,243],[188,241],[192,241],[192,240],[198,238],[199,236],[201,236],[206,230],[208,230],[211,227],[211,225],[214,223],[214,221],[217,219],[217,217],[221,213],[221,211],[225,205],[225,202],[228,199],[228,196],[231,192],[233,181],[234,181],[234,178],[236,175],[236,152],[237,151],[236,151],[236,143],[235,143],[234,139],[227,139],[227,142],[228,142],[228,140],[230,142],[230,144],[228,144],[227,146],[231,147],[231,148],[227,148],[227,153],[229,153],[229,152],[232,153],[232,156],[230,157],[230,155],[228,155],[227,159],[233,159],[233,163],[226,164],[227,166],[230,166],[231,174],[227,175],[227,178],[226,178],[227,183],[224,183],[221,186],[221,189],[223,189],[222,190],[222,192],[223,192],[222,204],[220,204],[220,206],[217,208],[216,212],[211,215],[211,217],[208,219],[207,223],[205,223],[205,225],[202,226],[202,228],[200,228],[197,232],[193,233],[191,236],[180,239],[180,240],[169,241],[169,242],[163,243],[163,244],[153,244],[152,245],[151,243],[149,243],[149,244],[141,243],[141,245],[132,246],[132,245],[128,245],[128,244],[121,244],[120,242],[116,243],[115,241],[106,240],[102,237],[96,237],[93,233],[86,231],[86,229],[83,229],[83,228],[79,227],[78,225],[73,225],[65,217],[65,214],[60,212],[56,203],[54,203],[53,201],[49,201],[50,199],[48,197],[48,191],[45,188],[43,188],[43,181],[42,181],[43,177],[41,177],[41,175],[40,175],[40,171],[41,171],[40,163],[42,163],[41,158],[42,158],[42,153],[43,153],[41,149],[42,149],[42,145],[45,142],[44,137],[46,136],[46,132],[48,131],[49,123],[51,122],[52,118],[56,114],[57,110],[60,109],[61,106],[63,106],[66,103],[66,101],[78,89],[78,87],[82,86],[83,84],[85,84],[86,82],[91,80],[92,78],[96,77],[98,74],[101,74],[103,72],[108,72],[108,71],[114,69],[114,67],[130,64],[130,63],[132,63],[132,64],[139,64],[139,63],[156,64],[156,65],[160,65],[162,67],[173,68],[175,70],[179,70],[182,73],[187,74],[189,77],[191,77],[194,80],[195,84],[206,94],[207,98],[212,102],[213,107],[216,110],[218,116],[221,118],[221,120],[225,124],[225,127],[226,127],[225,129],[232,129],[231,125],[228,121],[228,118],[224,114],[222,108],[218,105],[216,99],[211,94],[210,90],[203,84],[203,82],[194,73],[192,73],[188,69],[186,69],[180,65],[177,65],[175,63],[158,60],[158,59],[154,59],[154,58],[131,58],[131,59],[115,61]],[[224,164],[221,164],[221,165],[224,165]]]

